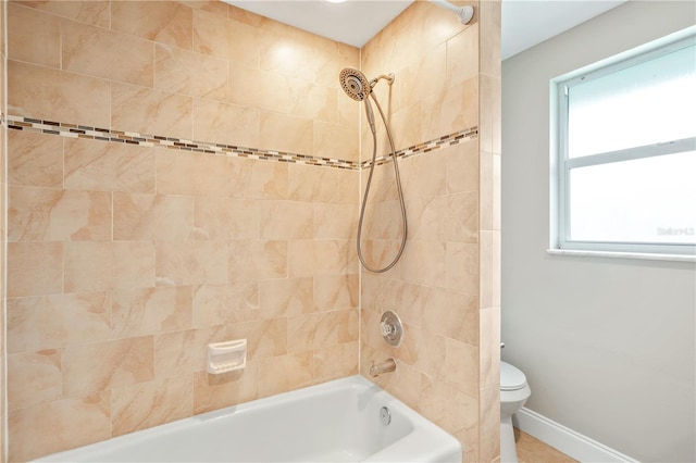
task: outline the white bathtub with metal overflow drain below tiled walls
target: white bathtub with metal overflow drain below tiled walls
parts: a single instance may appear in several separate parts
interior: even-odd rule
[[[351,376],[37,461],[461,462],[461,445],[380,387]]]

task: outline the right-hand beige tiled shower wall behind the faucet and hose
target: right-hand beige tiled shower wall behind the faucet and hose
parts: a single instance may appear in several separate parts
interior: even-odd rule
[[[373,361],[395,358],[396,372],[376,383],[458,437],[464,461],[489,462],[499,455],[500,3],[474,4],[463,26],[415,2],[363,48],[369,76],[396,74],[376,95],[397,149],[478,135],[399,162],[408,242],[394,268],[362,274],[360,365],[368,375]],[[378,143],[377,155],[388,152],[385,136]],[[361,148],[364,162],[364,127]],[[374,175],[363,243],[378,267],[396,253],[401,220],[393,163]],[[380,336],[386,310],[405,324],[399,348]]]

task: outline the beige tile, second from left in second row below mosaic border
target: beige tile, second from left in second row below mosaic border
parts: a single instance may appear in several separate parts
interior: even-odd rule
[[[171,195],[113,193],[115,241],[187,241],[194,234],[194,199]]]

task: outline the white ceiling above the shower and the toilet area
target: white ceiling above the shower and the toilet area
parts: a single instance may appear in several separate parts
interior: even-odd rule
[[[410,0],[268,1],[225,0],[277,22],[362,47],[401,13]],[[595,17],[625,0],[502,0],[501,58],[505,60]],[[452,21],[458,21],[452,13]]]

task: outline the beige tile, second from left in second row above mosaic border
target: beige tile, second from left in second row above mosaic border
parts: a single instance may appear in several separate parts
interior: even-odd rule
[[[154,47],[126,34],[63,20],[63,70],[152,87]]]

